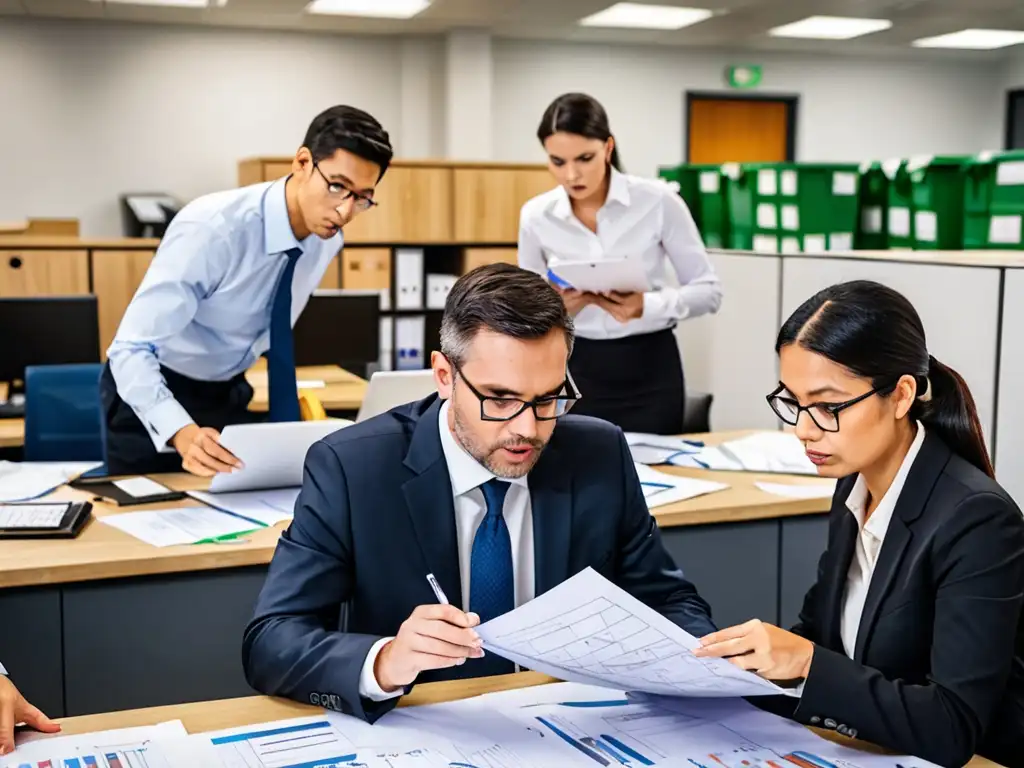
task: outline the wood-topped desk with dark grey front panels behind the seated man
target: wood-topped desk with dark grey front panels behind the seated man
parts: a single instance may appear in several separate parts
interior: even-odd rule
[[[674,471],[732,486],[654,515],[716,622],[791,625],[816,577],[827,521],[814,512],[827,500],[773,497],[741,473]],[[206,485],[184,474],[156,479],[178,489]],[[87,498],[70,488],[54,496]],[[131,510],[94,505],[97,518]],[[285,526],[237,544],[158,549],[94,520],[74,541],[0,542],[0,616],[27,628],[0,633],[0,658],[55,716],[247,695],[239,646]],[[144,689],[132,683],[140,678]]]

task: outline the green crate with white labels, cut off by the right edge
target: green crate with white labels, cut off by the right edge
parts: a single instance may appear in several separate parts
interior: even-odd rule
[[[965,183],[964,248],[1024,248],[1024,151],[982,153]]]

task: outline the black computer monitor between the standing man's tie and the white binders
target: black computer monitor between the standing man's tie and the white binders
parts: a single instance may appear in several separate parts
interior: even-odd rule
[[[314,292],[295,323],[295,365],[366,376],[381,354],[380,301],[377,291]]]

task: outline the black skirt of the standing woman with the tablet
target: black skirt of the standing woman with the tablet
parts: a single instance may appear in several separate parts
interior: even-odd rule
[[[578,337],[569,372],[582,395],[573,414],[626,432],[682,432],[683,361],[671,329],[602,341]]]

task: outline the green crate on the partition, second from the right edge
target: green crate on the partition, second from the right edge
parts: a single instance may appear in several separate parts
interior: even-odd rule
[[[921,157],[900,164],[889,183],[890,249],[964,248],[964,191],[970,160]]]

